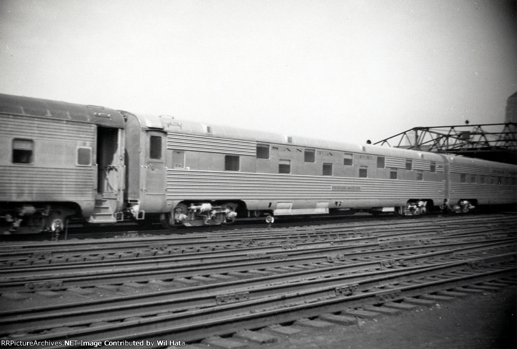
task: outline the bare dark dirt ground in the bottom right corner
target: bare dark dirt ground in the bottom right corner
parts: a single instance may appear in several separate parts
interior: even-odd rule
[[[510,349],[516,347],[516,310],[516,288],[507,286],[358,325],[303,328],[296,335],[276,336],[275,343],[250,347]]]

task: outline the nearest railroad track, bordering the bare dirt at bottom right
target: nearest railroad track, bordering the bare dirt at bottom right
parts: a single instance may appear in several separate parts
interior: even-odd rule
[[[515,255],[510,254],[513,257]],[[483,283],[487,278],[495,279],[512,275],[515,265],[511,259],[507,260],[510,254],[488,258],[478,257],[461,262],[436,263],[414,270],[396,269],[384,273],[363,273],[356,275],[352,282],[327,280],[327,283],[332,282],[327,286],[313,282],[311,286],[304,285],[303,291],[289,292],[288,289],[286,292],[284,287],[284,290],[278,291],[280,294],[256,298],[246,296],[247,293],[242,292],[228,295],[234,301],[223,301],[201,309],[192,307],[185,311],[172,309],[169,312],[164,311],[166,306],[160,304],[154,312],[148,310],[145,313],[104,316],[102,322],[97,321],[95,311],[86,314],[84,320],[80,318],[65,323],[60,322],[59,319],[66,315],[67,310],[64,313],[40,315],[38,325],[34,325],[37,321],[34,317],[30,319],[30,316],[14,315],[7,319],[3,318],[3,327],[11,330],[14,327],[17,332],[13,337],[23,338],[26,341],[64,341],[74,338],[80,338],[83,341],[117,341],[128,338],[164,338],[163,336],[171,333],[174,333],[176,339],[195,341],[220,333],[228,326],[235,328],[235,323],[239,323],[239,327],[243,325],[246,327],[245,323],[250,321],[253,322],[253,326],[296,321],[300,317],[321,315],[322,312],[336,312],[338,304],[344,306],[341,312],[346,312],[348,309],[348,313],[354,314],[357,311],[353,309],[366,305],[387,304],[389,306],[392,302],[405,300],[408,297],[419,299],[423,290],[427,294],[437,295],[440,291],[446,291],[451,287],[467,286],[475,289],[476,286],[472,285],[476,282]],[[495,258],[499,259],[499,262],[495,261]],[[264,292],[264,290],[261,291]],[[215,298],[217,303],[217,296]],[[141,304],[137,306],[142,307]],[[110,311],[110,309],[103,310]],[[57,321],[51,321],[55,319]],[[9,324],[9,321],[12,323]],[[19,322],[27,322],[30,325],[24,327]],[[31,329],[33,332],[19,332],[24,329]],[[38,332],[34,333],[34,330]]]

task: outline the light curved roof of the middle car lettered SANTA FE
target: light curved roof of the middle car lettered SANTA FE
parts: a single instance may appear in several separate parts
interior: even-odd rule
[[[427,153],[425,151],[414,151],[401,148],[382,147],[372,144],[357,144],[337,142],[322,139],[282,134],[275,132],[254,131],[231,126],[205,125],[190,120],[178,119],[168,115],[134,114],[140,119],[142,126],[147,128],[163,129],[171,133],[187,133],[219,138],[251,141],[265,144],[277,144],[286,147],[306,147],[315,149],[329,149],[338,151],[349,151],[351,153],[375,154],[381,156],[392,156],[407,159],[427,160],[443,162],[441,155]]]

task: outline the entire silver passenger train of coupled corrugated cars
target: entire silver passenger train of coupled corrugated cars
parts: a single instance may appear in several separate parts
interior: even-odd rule
[[[466,212],[516,203],[516,167],[0,95],[3,232],[160,220]]]

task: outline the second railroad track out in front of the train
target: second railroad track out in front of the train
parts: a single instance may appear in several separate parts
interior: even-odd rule
[[[32,265],[2,268],[0,289],[5,292],[26,292],[62,290],[69,287],[92,287],[96,284],[148,282],[150,280],[192,280],[193,276],[223,274],[227,272],[248,272],[253,268],[293,267],[307,263],[321,263],[330,260],[357,259],[375,256],[379,253],[409,254],[422,250],[453,248],[455,246],[484,247],[489,241],[507,243],[513,241],[505,229],[491,229],[491,235],[474,228],[468,236],[447,235],[440,232],[433,238],[415,236],[409,239],[393,239],[399,233],[378,237],[349,238],[339,241],[308,244],[270,246],[264,248],[236,249],[232,251],[209,251],[181,255],[161,255],[134,260],[103,260],[67,263],[65,265]],[[428,235],[425,235],[428,236]],[[419,237],[419,238],[417,238]],[[245,262],[243,262],[245,261]],[[186,280],[185,280],[186,279]],[[181,281],[179,281],[181,282]],[[193,282],[193,281],[192,281]]]

